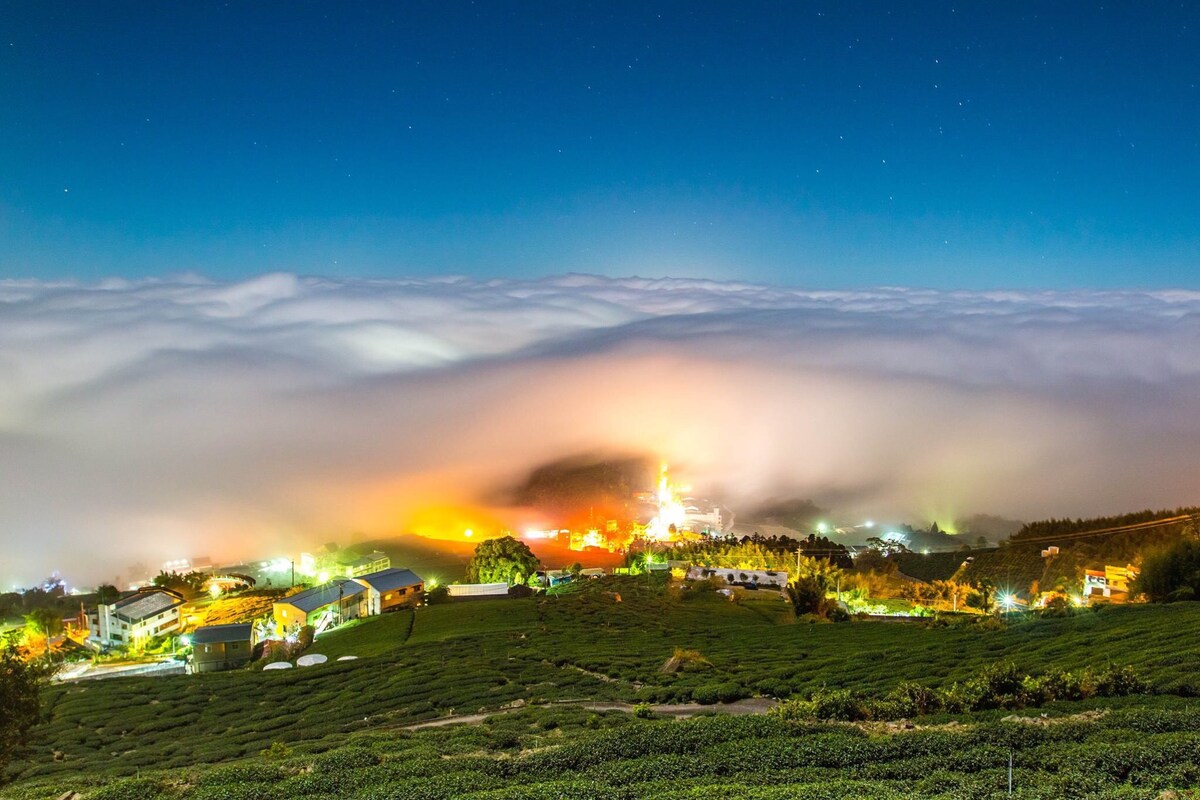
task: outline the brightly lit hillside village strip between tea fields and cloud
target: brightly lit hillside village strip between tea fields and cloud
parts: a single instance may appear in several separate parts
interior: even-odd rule
[[[412,565],[394,566],[391,555],[379,549],[386,545],[365,548],[337,542],[294,557],[223,566],[206,557],[176,558],[163,563],[155,577],[134,565],[131,573],[137,579],[124,590],[106,585],[82,595],[78,610],[61,620],[49,619],[47,613],[28,615],[25,627],[40,630],[26,636],[26,644],[36,645],[41,638],[42,649],[34,646],[31,654],[54,650],[60,655],[65,663],[55,676],[59,681],[205,673],[253,662],[266,669],[287,669],[323,663],[325,656],[308,652],[314,639],[360,620],[418,609],[431,601],[553,594],[571,583],[607,576],[658,573],[684,587],[703,583],[734,602],[748,591],[775,593],[781,600],[794,601],[798,584],[808,581],[815,585],[818,601],[811,609],[798,606],[797,613],[893,619],[937,612],[1015,613],[1055,604],[1122,603],[1129,600],[1138,576],[1133,564],[1084,564],[1075,567],[1074,581],[1061,577],[1069,570],[1058,570],[1060,577],[1051,584],[1046,576],[1056,572],[1054,567],[1063,558],[1056,545],[1039,551],[1002,542],[1000,548],[914,552],[919,542],[940,535],[936,523],[931,533],[905,527],[866,536],[858,545],[840,541],[856,531],[871,533],[875,523],[832,528],[816,522],[806,537],[799,533],[764,537],[755,531],[738,539],[733,515],[685,497],[668,479],[666,464],[655,491],[635,493],[632,501],[644,516],[631,524],[589,519],[582,530],[530,529],[521,535],[505,530],[481,537],[475,558],[484,553],[493,560],[508,559],[508,564],[490,572],[468,565],[466,579],[443,582],[420,575]],[[1141,531],[1144,527],[1136,523],[1133,529]],[[474,536],[473,530],[463,534],[467,540]],[[509,552],[487,557],[496,542],[508,542]],[[588,554],[618,554],[622,560],[608,567],[576,561],[550,569],[530,545],[583,560]],[[1014,558],[1022,551],[1024,559]],[[1012,576],[1012,564],[1034,559],[1034,572],[1043,572],[1044,587],[1038,579],[1021,585],[1009,578],[1001,584],[979,572],[982,561],[1003,557],[1008,564],[1001,569]],[[943,565],[940,576],[928,570],[937,561]],[[52,597],[58,593],[61,604],[78,590],[68,591],[66,582],[54,577],[34,591]]]

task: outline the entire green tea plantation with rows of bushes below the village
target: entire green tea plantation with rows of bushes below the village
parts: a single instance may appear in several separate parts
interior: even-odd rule
[[[1016,796],[1157,796],[1200,782],[1200,700],[1189,699],[1200,696],[1198,625],[1200,603],[995,630],[811,625],[769,593],[731,603],[613,578],[364,621],[314,643],[331,656],[319,667],[55,686],[0,796],[980,798],[1007,792],[1009,753]],[[664,672],[680,648],[697,657]],[[980,712],[914,730],[656,721],[581,704],[937,686],[998,661],[1031,673],[1133,664],[1154,694],[1021,712],[1033,723]],[[406,729],[479,711],[496,714],[481,726]],[[1054,722],[1063,715],[1078,716]]]

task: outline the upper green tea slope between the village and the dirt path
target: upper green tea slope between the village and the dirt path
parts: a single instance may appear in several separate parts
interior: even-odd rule
[[[1159,688],[1180,688],[1190,686],[1190,664],[1200,657],[1195,643],[1178,636],[1200,624],[1200,603],[1106,608],[991,632],[784,624],[788,618],[766,593],[744,604],[685,601],[638,579],[589,583],[546,600],[419,609],[407,640],[403,613],[391,614],[322,637],[313,648],[361,656],[353,662],[55,687],[34,757],[18,766],[29,796],[56,796],[80,771],[108,780],[138,769],[178,770],[256,757],[276,741],[320,750],[380,728],[407,741],[397,724],[515,699],[682,700],[822,684],[882,688],[904,679],[965,678],[996,658],[1033,672],[1111,658],[1139,664]],[[713,667],[660,673],[674,646],[700,650]]]

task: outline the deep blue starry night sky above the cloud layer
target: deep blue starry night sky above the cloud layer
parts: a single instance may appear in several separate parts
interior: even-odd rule
[[[1200,288],[1200,5],[12,2],[0,277]]]

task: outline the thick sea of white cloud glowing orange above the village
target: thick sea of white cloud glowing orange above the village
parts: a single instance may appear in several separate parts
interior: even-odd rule
[[[1200,293],[0,282],[0,581],[390,534],[575,452],[734,509],[1200,499]]]

